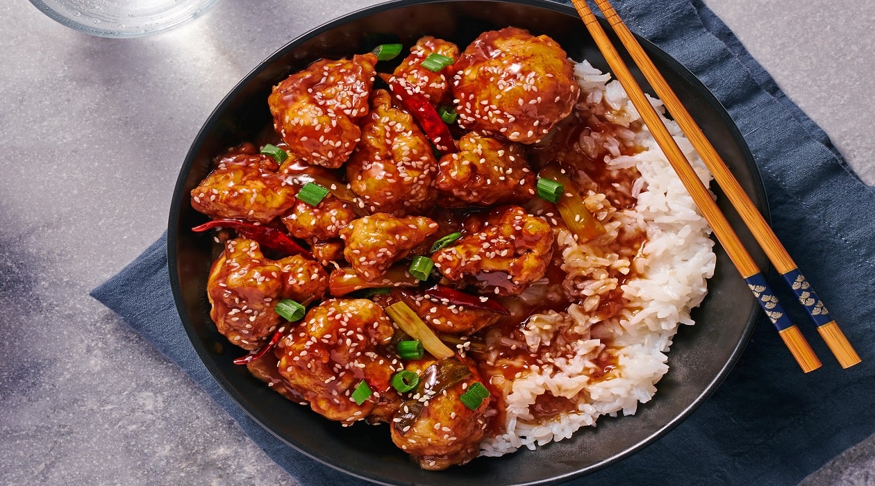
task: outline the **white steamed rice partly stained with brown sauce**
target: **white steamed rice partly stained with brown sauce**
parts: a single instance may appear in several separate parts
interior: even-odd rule
[[[582,88],[578,107],[625,127],[616,132],[620,140],[585,135],[581,147],[594,151],[600,146],[610,154],[606,160],[613,167],[637,168],[641,177],[632,188],[637,203],[634,209],[617,210],[604,195],[591,193],[586,205],[601,220],[606,235],[578,245],[567,231],[559,233],[557,242],[568,274],[564,285],[580,296],[581,303],[571,305],[567,312],[532,316],[523,331],[525,345],[529,351],[542,352],[561,339],[558,333],[567,330],[581,338],[566,348],[570,352],[542,358],[542,365],[533,365],[505,382],[505,433],[483,441],[481,455],[533,449],[569,438],[579,427],[595,425],[600,415],[635,413],[639,403],[653,398],[655,384],[669,370],[666,353],[672,337],[680,323],[693,323],[690,309],[702,302],[705,279],[714,272],[710,229],[620,83],[610,81],[610,74],[586,61],[576,66],[575,73]],[[660,101],[651,102],[661,109]],[[673,121],[667,121],[667,126],[707,185],[711,175],[690,142]],[[634,156],[620,155],[620,143],[629,141],[644,150]],[[611,251],[620,245],[618,238],[639,232],[647,235],[640,253],[630,258]],[[627,307],[601,319],[600,299],[618,287],[618,279],[610,275],[630,271],[634,276],[620,287]],[[617,365],[604,378],[591,379],[595,361],[606,346]],[[534,420],[529,406],[544,392],[570,399],[576,411]]]

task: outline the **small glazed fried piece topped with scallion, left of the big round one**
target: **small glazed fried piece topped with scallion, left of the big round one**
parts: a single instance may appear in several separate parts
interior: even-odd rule
[[[410,47],[409,55],[395,68],[394,74],[415,87],[414,90],[423,94],[432,104],[437,104],[444,99],[444,95],[450,87],[449,82],[447,82],[447,76],[450,74],[446,72],[450,71],[452,67],[444,68],[444,70],[435,73],[421,66],[423,60],[432,53],[456,60],[458,59],[458,46],[431,36],[420,38],[416,41],[416,45]]]

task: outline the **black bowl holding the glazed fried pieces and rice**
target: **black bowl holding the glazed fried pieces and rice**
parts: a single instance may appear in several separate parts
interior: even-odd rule
[[[746,283],[718,249],[709,295],[693,313],[698,324],[680,330],[669,354],[669,373],[659,383],[655,399],[640,406],[638,413],[619,419],[602,417],[598,427],[584,427],[570,440],[535,451],[478,458],[442,472],[419,469],[395,448],[387,427],[340,427],[270,391],[249,376],[244,366],[231,363],[242,351],[228,344],[208,316],[206,282],[213,256],[212,236],[190,231],[205,218],[193,211],[189,191],[207,175],[210,160],[229,146],[257,141],[269,132],[270,88],[313,60],[367,52],[386,41],[412,45],[426,34],[464,47],[480,32],[507,25],[547,34],[572,59],[588,59],[593,66],[608,71],[575,10],[562,4],[540,0],[384,3],[318,27],[264,60],[210,115],[180,171],[170,215],[168,257],[173,295],[194,349],[222,388],[255,421],[305,455],[353,476],[390,484],[535,484],[581,476],[620,461],[675,427],[714,391],[739,358],[760,312]],[[724,108],[676,60],[647,41],[641,39],[641,43],[741,185],[766,213],[753,157]],[[633,66],[631,61],[629,64]],[[645,80],[638,77],[647,89]],[[747,247],[756,248],[717,192],[721,208],[741,239]],[[753,257],[760,267],[767,266],[762,253],[753,252]]]

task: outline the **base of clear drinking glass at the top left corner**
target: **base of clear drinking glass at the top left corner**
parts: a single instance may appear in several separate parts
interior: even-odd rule
[[[126,38],[169,31],[218,0],[31,0],[45,15],[77,31]]]

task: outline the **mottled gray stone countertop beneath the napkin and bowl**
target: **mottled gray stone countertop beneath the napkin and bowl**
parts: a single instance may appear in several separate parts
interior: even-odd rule
[[[149,38],[0,3],[0,483],[294,484],[197,385],[88,297],[165,230],[189,143],[291,38],[368,0],[222,0]],[[707,0],[875,181],[869,0]],[[875,436],[806,484],[875,483]]]

